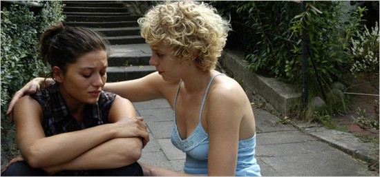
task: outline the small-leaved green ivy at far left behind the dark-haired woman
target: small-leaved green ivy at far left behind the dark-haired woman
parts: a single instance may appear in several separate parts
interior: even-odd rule
[[[61,1],[41,1],[40,9],[1,2],[1,120],[10,98],[30,79],[45,72],[36,45],[50,25],[64,20]]]

